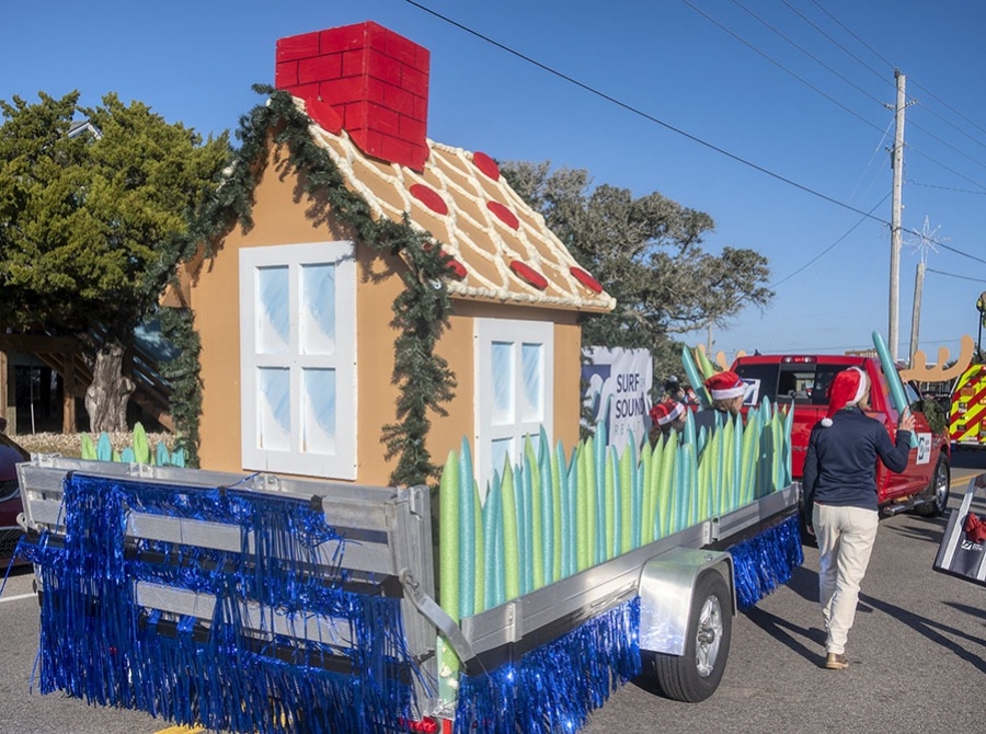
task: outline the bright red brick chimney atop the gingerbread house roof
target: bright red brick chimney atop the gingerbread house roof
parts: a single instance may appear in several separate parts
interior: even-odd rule
[[[428,60],[426,48],[366,21],[278,39],[275,84],[303,99],[322,127],[344,128],[366,154],[421,171]]]

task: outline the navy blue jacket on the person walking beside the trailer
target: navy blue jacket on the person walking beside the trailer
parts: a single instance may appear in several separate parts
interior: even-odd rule
[[[907,467],[909,455],[909,431],[897,431],[896,444],[891,444],[883,424],[859,408],[839,411],[827,428],[816,423],[802,475],[809,523],[815,502],[875,511],[876,458],[899,473]]]

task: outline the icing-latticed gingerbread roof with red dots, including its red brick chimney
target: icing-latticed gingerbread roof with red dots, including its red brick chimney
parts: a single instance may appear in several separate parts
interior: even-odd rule
[[[367,22],[282,38],[277,87],[375,216],[428,232],[458,298],[609,311],[616,301],[514,192],[495,161],[428,139],[428,53]]]

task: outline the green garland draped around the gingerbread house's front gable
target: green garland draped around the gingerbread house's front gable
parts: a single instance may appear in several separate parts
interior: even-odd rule
[[[412,229],[406,216],[400,223],[386,218],[375,220],[367,202],[346,188],[329,153],[311,139],[308,131],[311,121],[295,106],[291,96],[265,85],[254,85],[254,91],[270,95],[270,100],[240,119],[237,137],[241,146],[236,160],[218,192],[203,202],[187,234],[183,261],[190,261],[200,243],[206,243],[206,256],[214,256],[214,243],[237,223],[244,231],[252,228],[256,173],[267,165],[271,141],[275,147],[284,146],[288,156],[286,160],[274,161],[277,174],[303,172],[299,181],[311,202],[309,216],[326,221],[331,210],[341,222],[353,228],[360,243],[378,252],[402,253],[409,265],[401,273],[404,288],[393,302],[393,324],[400,332],[394,341],[393,382],[400,390],[397,422],[385,426],[381,443],[387,446],[387,459],[399,457],[390,475],[393,485],[421,484],[428,480],[434,483],[438,467],[426,447],[431,428],[428,412],[446,415],[443,404],[452,399],[456,387],[448,363],[435,353],[451,313],[451,299],[445,287],[450,257],[440,248],[432,246],[427,234]],[[177,329],[194,331],[192,319],[185,318]],[[195,368],[181,372],[184,378],[174,386],[173,410],[186,436],[183,447],[197,459],[194,447],[198,441],[202,408],[197,343],[192,345],[188,359],[194,359]]]

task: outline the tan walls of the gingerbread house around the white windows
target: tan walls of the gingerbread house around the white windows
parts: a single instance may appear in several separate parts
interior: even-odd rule
[[[257,181],[254,227],[230,232],[218,256],[205,261],[191,283],[191,306],[202,349],[203,404],[199,426],[202,467],[241,471],[239,256],[241,248],[352,239],[346,228],[330,221],[312,221],[308,206],[295,202],[294,176],[282,180],[268,167]],[[397,458],[385,459],[383,426],[395,421],[398,387],[391,383],[394,339],[392,303],[403,284],[399,257],[357,248],[357,477],[360,484],[386,485]],[[456,376],[455,400],[447,416],[433,415],[428,435],[432,460],[442,465],[462,437],[473,437],[474,385],[473,319],[532,319],[555,321],[554,326],[554,431],[553,439],[565,447],[578,439],[580,329],[569,311],[457,300],[449,329],[438,344]]]

